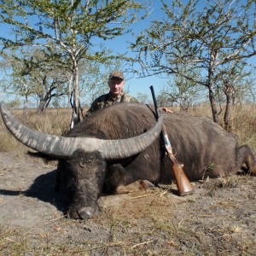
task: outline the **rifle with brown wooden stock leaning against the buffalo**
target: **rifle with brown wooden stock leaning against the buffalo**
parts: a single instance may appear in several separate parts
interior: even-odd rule
[[[151,90],[153,101],[154,101],[154,109],[155,109],[155,113],[156,113],[156,118],[159,119],[160,111],[157,106],[156,98],[154,95],[154,87],[153,87],[153,85],[151,85],[149,88]],[[168,154],[170,160],[172,160],[172,172],[174,174],[174,177],[175,177],[175,180],[177,183],[178,194],[181,196],[193,194],[195,192],[195,189],[193,189],[193,187],[191,186],[191,184],[189,182],[188,177],[183,172],[183,163],[180,163],[176,159],[175,155],[172,152],[172,146],[169,141],[165,125],[163,125],[162,131],[161,131],[161,137],[165,143],[166,153]]]

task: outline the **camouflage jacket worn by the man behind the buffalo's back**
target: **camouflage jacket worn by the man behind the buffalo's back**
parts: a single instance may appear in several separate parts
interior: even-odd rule
[[[91,113],[94,113],[98,109],[107,108],[109,106],[112,106],[113,104],[120,102],[138,103],[136,98],[129,96],[125,93],[120,94],[117,97],[113,97],[111,93],[108,92],[107,94],[99,96],[98,98],[96,98],[94,102],[91,103],[91,107],[87,111],[86,116],[90,115]]]

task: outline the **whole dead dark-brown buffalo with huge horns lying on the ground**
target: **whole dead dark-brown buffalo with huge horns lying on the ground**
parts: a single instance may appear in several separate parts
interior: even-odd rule
[[[98,212],[102,193],[120,185],[146,179],[151,183],[172,182],[172,162],[160,142],[161,120],[146,105],[122,103],[98,110],[75,125],[67,137],[32,131],[20,124],[1,104],[9,131],[21,143],[58,158],[58,170],[70,196],[69,216],[91,218]],[[191,181],[224,177],[243,164],[256,174],[253,153],[238,147],[235,138],[211,119],[178,113],[164,114],[166,131]],[[153,128],[151,128],[154,126]]]

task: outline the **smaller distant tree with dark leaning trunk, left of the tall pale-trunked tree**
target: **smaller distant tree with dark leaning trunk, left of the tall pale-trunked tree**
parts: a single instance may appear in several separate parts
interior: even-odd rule
[[[43,112],[54,97],[67,96],[65,68],[58,67],[54,60],[49,61],[45,51],[22,49],[19,55],[15,54],[10,57],[13,70],[11,87],[20,96],[25,96],[25,102],[28,96],[38,96],[38,113]]]

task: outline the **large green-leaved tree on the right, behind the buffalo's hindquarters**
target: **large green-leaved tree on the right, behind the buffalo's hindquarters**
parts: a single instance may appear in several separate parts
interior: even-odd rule
[[[256,55],[255,1],[162,0],[163,20],[154,20],[131,49],[140,76],[177,74],[208,90],[212,118],[218,123],[215,82],[230,63]],[[183,73],[186,69],[188,73]],[[225,69],[225,72],[229,72]]]

